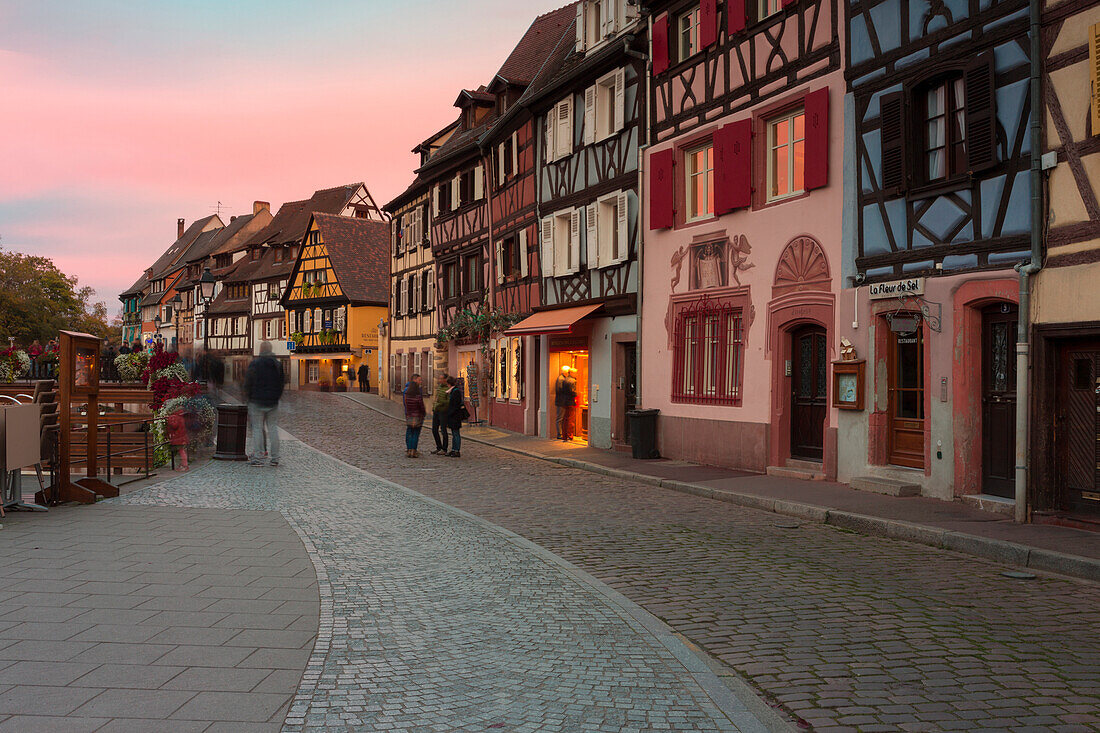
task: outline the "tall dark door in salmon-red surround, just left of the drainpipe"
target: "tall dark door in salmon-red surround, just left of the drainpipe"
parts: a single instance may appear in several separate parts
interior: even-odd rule
[[[981,315],[981,490],[1012,499],[1016,463],[1016,306]]]

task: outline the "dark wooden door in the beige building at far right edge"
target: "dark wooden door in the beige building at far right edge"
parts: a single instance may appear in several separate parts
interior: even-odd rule
[[[1063,505],[1100,512],[1100,343],[1060,349],[1055,439]]]

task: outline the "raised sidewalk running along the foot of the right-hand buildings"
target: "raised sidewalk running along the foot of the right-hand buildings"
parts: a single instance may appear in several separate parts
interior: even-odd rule
[[[393,401],[360,393],[344,396],[402,419],[402,406]],[[958,502],[884,496],[827,481],[761,475],[679,460],[637,460],[628,453],[493,427],[466,428],[462,436],[571,468],[999,562],[1100,580],[1100,533],[1043,524],[1021,525]]]

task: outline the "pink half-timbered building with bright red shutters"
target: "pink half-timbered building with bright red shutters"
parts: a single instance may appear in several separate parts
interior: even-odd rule
[[[652,11],[641,401],[662,455],[835,475],[839,0]]]

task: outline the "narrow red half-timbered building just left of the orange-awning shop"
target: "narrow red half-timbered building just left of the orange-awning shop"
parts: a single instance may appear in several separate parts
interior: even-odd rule
[[[573,50],[572,6],[539,15],[488,84],[498,117],[480,138],[488,185],[493,308],[518,320],[541,303],[537,117],[530,102]],[[538,431],[539,359],[534,335],[491,335],[485,383],[493,425]],[[534,390],[529,387],[534,386]]]

